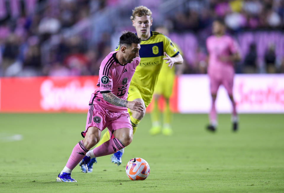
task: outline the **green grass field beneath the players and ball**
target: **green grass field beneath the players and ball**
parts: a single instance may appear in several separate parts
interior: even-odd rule
[[[149,136],[149,114],[141,121],[122,164],[97,158],[93,173],[77,166],[78,183],[55,182],[72,148],[82,139],[86,114],[0,114],[0,192],[284,192],[283,114],[219,115],[216,133],[207,115],[175,114],[171,137]],[[8,136],[21,134],[22,140]],[[141,157],[149,177],[131,181],[126,163]]]

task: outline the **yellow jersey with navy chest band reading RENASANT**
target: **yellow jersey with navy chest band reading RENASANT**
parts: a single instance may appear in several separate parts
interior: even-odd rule
[[[162,33],[150,32],[151,36],[147,40],[142,40],[139,50],[141,61],[136,67],[130,85],[133,84],[143,91],[148,100],[152,99],[154,88],[158,79],[159,72],[163,64],[164,52],[170,57],[179,54],[178,49],[170,38]],[[136,34],[137,35],[137,34]],[[116,50],[119,49],[119,44]]]

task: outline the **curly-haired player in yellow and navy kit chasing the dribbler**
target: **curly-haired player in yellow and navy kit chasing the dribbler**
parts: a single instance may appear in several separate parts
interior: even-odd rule
[[[166,65],[172,68],[174,64],[182,64],[183,57],[179,54],[178,49],[171,42],[171,40],[164,34],[150,31],[152,25],[152,12],[145,6],[135,7],[130,17],[133,27],[136,29],[136,35],[142,39],[140,44],[139,56],[141,61],[136,67],[135,73],[130,82],[127,100],[136,100],[144,105],[144,111],[137,113],[136,111],[128,109],[130,115],[131,125],[133,127],[133,134],[136,128],[145,115],[146,107],[153,98],[154,88],[161,70],[163,60],[166,60]],[[119,49],[117,45],[116,50]],[[112,137],[112,133],[106,132],[101,141],[97,144],[100,146],[105,141]],[[121,156],[124,149],[117,151],[111,157],[114,164],[121,164]],[[92,168],[95,160],[91,160],[88,168]],[[90,172],[90,171],[89,171]]]

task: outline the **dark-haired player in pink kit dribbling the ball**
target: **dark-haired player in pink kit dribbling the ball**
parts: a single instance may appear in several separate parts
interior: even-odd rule
[[[131,78],[140,62],[140,43],[135,34],[126,32],[120,37],[120,49],[110,52],[101,62],[99,88],[91,95],[85,131],[81,133],[84,139],[73,148],[57,182],[77,182],[71,178],[71,172],[85,155],[84,159],[91,159],[113,154],[131,143],[133,130],[127,108],[139,113],[144,110],[141,102],[126,100]],[[111,139],[89,151],[99,142],[106,127],[112,133]]]

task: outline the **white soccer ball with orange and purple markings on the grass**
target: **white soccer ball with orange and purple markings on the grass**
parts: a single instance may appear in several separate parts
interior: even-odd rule
[[[144,180],[149,176],[150,166],[144,159],[136,157],[128,161],[125,172],[131,180]]]

